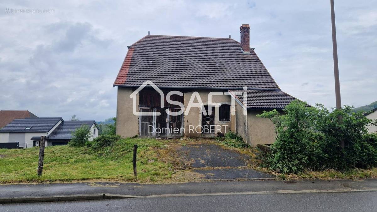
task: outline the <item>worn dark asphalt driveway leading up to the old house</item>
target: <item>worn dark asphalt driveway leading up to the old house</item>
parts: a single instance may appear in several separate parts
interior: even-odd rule
[[[180,160],[205,179],[260,179],[272,175],[248,166],[251,156],[215,143],[190,143],[176,149]]]

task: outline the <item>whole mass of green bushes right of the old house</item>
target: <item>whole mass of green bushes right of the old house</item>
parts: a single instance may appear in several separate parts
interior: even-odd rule
[[[366,128],[373,121],[362,111],[352,113],[352,109],[344,106],[329,112],[321,104],[309,107],[297,100],[283,110],[284,114],[264,111],[258,117],[273,121],[276,132],[276,142],[264,164],[283,173],[375,166],[377,135],[367,134]]]

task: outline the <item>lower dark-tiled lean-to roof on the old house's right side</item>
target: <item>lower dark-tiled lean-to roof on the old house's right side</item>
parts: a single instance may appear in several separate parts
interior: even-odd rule
[[[244,104],[243,90],[229,90],[229,92]],[[242,94],[235,95],[234,92],[242,92]],[[291,101],[296,100],[293,96],[279,90],[248,90],[246,92],[248,109],[284,109]]]

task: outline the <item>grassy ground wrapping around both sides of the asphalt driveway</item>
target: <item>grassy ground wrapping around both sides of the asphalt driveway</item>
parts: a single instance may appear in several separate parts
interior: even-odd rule
[[[49,146],[44,156],[44,169],[41,177],[37,176],[38,147],[29,149],[0,149],[0,183],[51,182],[72,180],[117,180],[139,182],[190,181],[200,180],[200,176],[186,175],[181,170],[182,158],[172,154],[173,146],[188,143],[216,143],[215,140],[156,140],[127,138],[114,146],[105,147],[100,152],[93,152],[86,147]],[[133,144],[138,144],[137,169],[138,179],[133,176]],[[166,144],[168,144],[166,146]],[[250,167],[267,172],[282,179],[360,179],[377,178],[377,168],[352,169],[340,172],[324,170],[322,172],[303,172],[299,174],[279,174],[260,166],[255,158],[256,149],[251,147],[235,148],[229,143],[218,143],[225,149],[234,149],[252,157]],[[159,156],[159,158],[158,158]],[[148,163],[153,159],[153,163]],[[169,170],[169,167],[172,169]],[[173,173],[176,174],[172,178]]]

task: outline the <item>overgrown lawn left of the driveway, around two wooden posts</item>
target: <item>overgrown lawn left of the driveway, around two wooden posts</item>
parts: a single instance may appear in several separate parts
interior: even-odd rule
[[[155,147],[165,140],[127,138],[100,151],[87,147],[48,146],[43,175],[37,176],[39,148],[0,149],[0,183],[107,179],[154,182],[170,178],[169,163],[159,161]],[[133,145],[137,150],[137,179],[133,176]],[[154,162],[148,163],[152,159]]]

